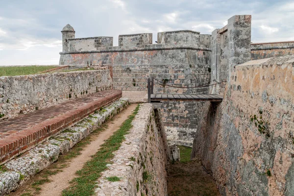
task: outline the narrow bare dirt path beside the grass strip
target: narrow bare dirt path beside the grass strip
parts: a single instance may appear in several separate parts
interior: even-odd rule
[[[94,155],[99,149],[100,145],[104,143],[116,130],[119,129],[121,124],[132,114],[137,104],[131,104],[121,113],[116,115],[112,121],[107,122],[108,127],[98,135],[94,135],[91,138],[92,142],[84,147],[81,154],[71,160],[69,167],[63,169],[63,172],[59,172],[56,175],[49,177],[50,182],[40,186],[41,191],[39,196],[59,196],[62,190],[67,188],[69,182],[76,177],[75,172],[82,169],[84,163],[91,159],[91,155]],[[21,187],[22,188],[22,187]],[[19,192],[19,194],[18,194]],[[20,196],[23,192],[17,191],[11,196]]]

